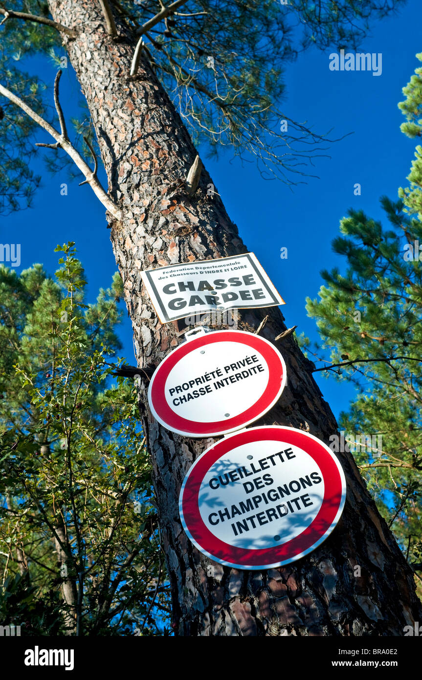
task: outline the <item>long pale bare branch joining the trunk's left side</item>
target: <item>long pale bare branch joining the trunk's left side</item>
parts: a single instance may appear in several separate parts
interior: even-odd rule
[[[43,144],[38,146],[49,146],[50,148],[58,148],[60,146],[71,157],[77,168],[80,169],[82,174],[86,177],[86,182],[90,185],[96,197],[101,201],[101,203],[103,203],[103,205],[107,208],[109,213],[111,213],[111,215],[113,215],[113,217],[115,217],[116,220],[121,220],[122,211],[120,210],[118,205],[114,203],[113,199],[111,199],[105,192],[99,180],[97,180],[94,173],[92,173],[89,165],[85,163],[82,156],[80,156],[80,154],[72,146],[70,141],[68,139],[65,139],[65,137],[58,133],[54,129],[54,127],[50,125],[50,123],[48,123],[46,120],[41,118],[41,116],[35,113],[35,111],[31,109],[31,107],[29,107],[24,101],[22,101],[22,99],[16,97],[16,95],[14,95],[13,92],[7,90],[7,88],[3,87],[3,85],[1,84],[0,95],[3,95],[3,97],[7,97],[7,99],[12,101],[12,103],[20,107],[22,111],[24,111],[30,118],[35,120],[35,122],[37,122],[44,130],[46,130],[53,137],[53,139],[56,140],[56,144],[52,145]]]

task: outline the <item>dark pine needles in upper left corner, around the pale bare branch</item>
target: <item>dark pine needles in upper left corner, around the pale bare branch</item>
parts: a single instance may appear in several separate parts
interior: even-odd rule
[[[10,2],[7,5],[15,12],[27,12],[37,16],[50,17],[48,3],[37,0]],[[60,35],[48,26],[34,22],[8,19],[0,29],[0,82],[23,99],[40,116],[53,126],[58,126],[53,106],[52,83],[44,84],[37,75],[29,75],[18,68],[24,58],[35,54],[46,54],[60,67],[60,59],[55,50],[63,52]],[[75,143],[80,146],[82,155],[91,158],[84,135],[93,141],[94,132],[86,101],[80,103],[82,120],[72,119],[75,129]],[[0,213],[7,215],[12,211],[31,207],[32,198],[41,181],[40,175],[33,173],[30,162],[35,153],[39,133],[37,124],[19,107],[8,99],[0,101]],[[96,145],[94,145],[96,146]],[[66,154],[42,154],[48,169],[56,172],[67,167],[71,178],[80,177]]]

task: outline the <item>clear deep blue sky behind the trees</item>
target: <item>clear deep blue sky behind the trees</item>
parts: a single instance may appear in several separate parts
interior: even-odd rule
[[[421,23],[420,0],[409,0],[395,16],[372,24],[362,51],[382,53],[379,77],[362,71],[330,71],[329,54],[334,50],[305,52],[287,65],[285,115],[307,121],[320,133],[334,128],[332,137],[353,132],[330,147],[331,158],[316,160],[313,173],[318,180],[310,178],[292,192],[281,182],[262,180],[254,165],[230,163],[231,154],[205,159],[247,247],[287,303],[282,307],[287,325],[297,324],[297,332],[304,331],[311,339],[317,339],[317,331],[306,316],[305,298],[317,296],[321,269],[344,267],[331,250],[340,218],[355,207],[381,219],[379,197],[387,194],[395,199],[398,187],[406,186],[415,142],[400,132],[404,118],[397,104],[403,99],[402,87],[419,65],[415,54],[422,51]],[[37,58],[24,67],[38,72],[45,82],[54,80],[52,63]],[[60,88],[69,120],[77,115],[75,105],[82,97],[71,69],[65,70]],[[40,133],[35,141],[46,141],[46,136]],[[43,175],[33,208],[2,218],[0,240],[21,244],[20,269],[42,262],[50,273],[57,268],[56,244],[75,241],[88,277],[88,296],[94,301],[96,291],[108,286],[116,271],[103,206],[88,186],[79,187],[77,182],[69,183],[67,196],[60,196],[60,184],[68,182],[66,171],[52,177],[41,160],[33,167]],[[353,195],[356,182],[362,185],[361,196]],[[283,246],[288,249],[287,260],[280,258]],[[126,314],[120,335],[122,356],[134,363]],[[316,376],[324,398],[338,415],[347,408],[353,388],[326,380],[320,373]]]

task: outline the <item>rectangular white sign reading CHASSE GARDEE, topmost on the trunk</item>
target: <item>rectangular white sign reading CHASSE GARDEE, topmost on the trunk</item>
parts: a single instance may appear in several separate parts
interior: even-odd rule
[[[253,253],[147,269],[141,277],[162,324],[215,309],[285,304]]]

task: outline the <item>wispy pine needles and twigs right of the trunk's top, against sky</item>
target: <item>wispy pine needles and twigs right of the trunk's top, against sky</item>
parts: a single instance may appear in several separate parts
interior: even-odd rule
[[[207,142],[211,154],[229,146],[264,177],[296,184],[294,173],[306,175],[302,167],[329,140],[285,112],[287,63],[309,46],[357,46],[369,19],[401,2],[194,0],[147,33],[144,50],[194,141]],[[157,0],[113,6],[134,31],[161,9]]]

